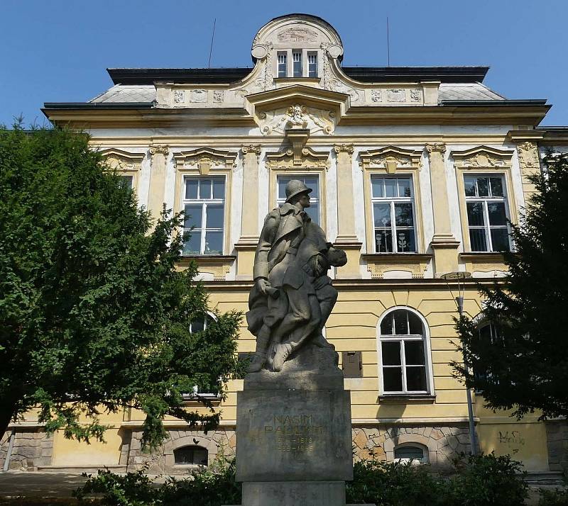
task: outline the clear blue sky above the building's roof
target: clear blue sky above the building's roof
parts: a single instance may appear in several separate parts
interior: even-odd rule
[[[285,13],[321,16],[345,65],[489,65],[485,84],[510,99],[548,99],[543,125],[568,125],[568,1],[2,0],[0,123],[43,122],[43,102],[87,101],[107,67],[251,65],[252,39]]]

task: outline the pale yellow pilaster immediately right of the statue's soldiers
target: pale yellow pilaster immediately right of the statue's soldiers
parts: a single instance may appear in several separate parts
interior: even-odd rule
[[[334,245],[343,249],[347,263],[337,268],[338,278],[360,278],[361,241],[355,232],[355,205],[353,191],[353,145],[336,144],[337,155],[337,239]]]

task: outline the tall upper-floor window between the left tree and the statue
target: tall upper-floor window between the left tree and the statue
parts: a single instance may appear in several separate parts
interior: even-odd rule
[[[225,178],[185,177],[182,254],[223,254]]]

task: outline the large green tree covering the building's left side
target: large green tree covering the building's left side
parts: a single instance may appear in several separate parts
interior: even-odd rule
[[[165,415],[216,425],[182,393],[222,390],[241,315],[190,332],[207,294],[195,264],[176,269],[181,216],[153,223],[87,135],[58,128],[0,128],[0,196],[0,437],[31,407],[84,440],[102,412],[140,409],[150,447]]]

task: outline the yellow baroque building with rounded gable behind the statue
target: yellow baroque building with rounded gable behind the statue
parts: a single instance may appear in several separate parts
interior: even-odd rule
[[[476,281],[506,272],[499,251],[534,191],[549,148],[568,151],[567,130],[538,128],[544,100],[508,100],[483,84],[487,67],[343,67],[332,26],[293,14],[256,33],[252,67],[109,69],[114,85],[86,103],[45,103],[57,125],[84,129],[124,174],[141,206],[192,215],[184,256],[195,259],[211,304],[246,310],[263,218],[290,179],[312,188],[312,220],[349,262],[336,269],[339,299],[325,328],[351,390],[355,459],[416,458],[437,466],[471,449],[466,390],[452,317],[467,272],[464,311],[484,322]],[[239,351],[253,352],[241,328]],[[214,432],[167,420],[169,439],[141,453],[143,419],[104,422],[106,443],[48,437],[33,413],[11,425],[0,461],[10,468],[108,466],[184,473],[233,454],[236,391],[217,401]],[[479,448],[513,454],[529,471],[568,467],[568,425],[484,408],[473,393]],[[188,405],[195,406],[188,398]]]

